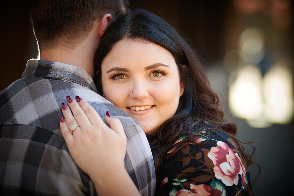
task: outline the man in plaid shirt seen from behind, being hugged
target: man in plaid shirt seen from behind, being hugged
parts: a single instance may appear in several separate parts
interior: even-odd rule
[[[121,120],[128,140],[126,170],[142,195],[154,193],[154,163],[146,135],[97,94],[92,80],[96,46],[122,8],[121,0],[32,2],[41,60],[29,60],[22,78],[0,93],[0,195],[96,195],[60,132],[61,103],[76,95],[101,117],[109,111]]]

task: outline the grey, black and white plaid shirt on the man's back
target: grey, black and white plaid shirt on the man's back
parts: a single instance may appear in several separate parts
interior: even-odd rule
[[[61,135],[59,116],[67,95],[84,98],[101,117],[109,111],[121,120],[126,170],[141,195],[153,195],[154,163],[140,125],[99,96],[83,69],[43,60],[29,60],[22,78],[0,93],[0,195],[97,195]]]

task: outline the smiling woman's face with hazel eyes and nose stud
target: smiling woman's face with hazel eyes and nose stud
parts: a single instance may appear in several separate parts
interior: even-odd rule
[[[146,135],[177,110],[181,90],[171,53],[154,43],[124,39],[116,43],[101,65],[103,94],[134,118]]]

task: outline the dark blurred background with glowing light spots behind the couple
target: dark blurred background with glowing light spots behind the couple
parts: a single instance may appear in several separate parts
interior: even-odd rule
[[[203,59],[238,137],[256,147],[255,195],[286,195],[294,183],[293,1],[129,0],[179,29]],[[1,3],[0,90],[38,49],[28,1]],[[246,146],[245,146],[246,147]],[[246,147],[247,150],[252,150]],[[249,167],[253,178],[256,166]],[[291,194],[290,194],[291,195]]]

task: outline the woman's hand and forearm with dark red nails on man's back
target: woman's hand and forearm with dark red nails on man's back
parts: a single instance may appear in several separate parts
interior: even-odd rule
[[[78,167],[93,181],[98,195],[140,195],[124,167],[126,135],[119,119],[105,116],[84,99],[70,99],[62,107],[60,128]],[[111,115],[109,115],[111,116]],[[79,125],[71,134],[71,125]]]

